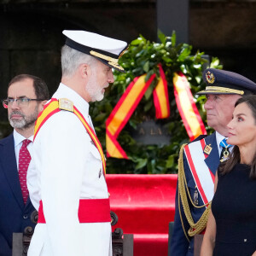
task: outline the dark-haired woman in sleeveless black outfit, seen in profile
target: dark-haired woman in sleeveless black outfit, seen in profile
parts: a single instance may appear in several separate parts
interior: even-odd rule
[[[256,96],[236,102],[228,127],[235,146],[218,167],[201,256],[256,256]]]

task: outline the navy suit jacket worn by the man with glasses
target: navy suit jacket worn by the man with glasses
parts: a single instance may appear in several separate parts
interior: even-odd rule
[[[34,211],[28,198],[24,205],[15,159],[13,134],[0,140],[0,256],[11,256],[13,232],[34,228]]]

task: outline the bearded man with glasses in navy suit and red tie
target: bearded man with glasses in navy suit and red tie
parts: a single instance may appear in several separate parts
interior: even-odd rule
[[[49,90],[42,79],[21,74],[9,82],[8,96],[3,100],[14,132],[0,141],[0,256],[11,256],[14,232],[35,226],[31,220],[35,209],[26,188],[26,172],[34,124],[48,99]]]

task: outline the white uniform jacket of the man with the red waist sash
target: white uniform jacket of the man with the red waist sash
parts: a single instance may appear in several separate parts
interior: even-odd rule
[[[89,104],[64,84],[53,98],[73,102],[89,125]],[[27,183],[32,204],[43,201],[46,224],[37,224],[28,256],[112,255],[110,223],[79,223],[79,199],[108,198],[102,159],[72,112],[46,120],[33,144]]]

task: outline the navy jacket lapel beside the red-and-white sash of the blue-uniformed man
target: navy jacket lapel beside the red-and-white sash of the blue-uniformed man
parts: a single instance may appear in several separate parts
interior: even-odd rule
[[[206,143],[207,145],[211,144],[212,151],[207,156],[205,162],[208,168],[211,170],[211,172],[215,175],[219,165],[218,145],[216,143],[216,132],[206,137]]]

